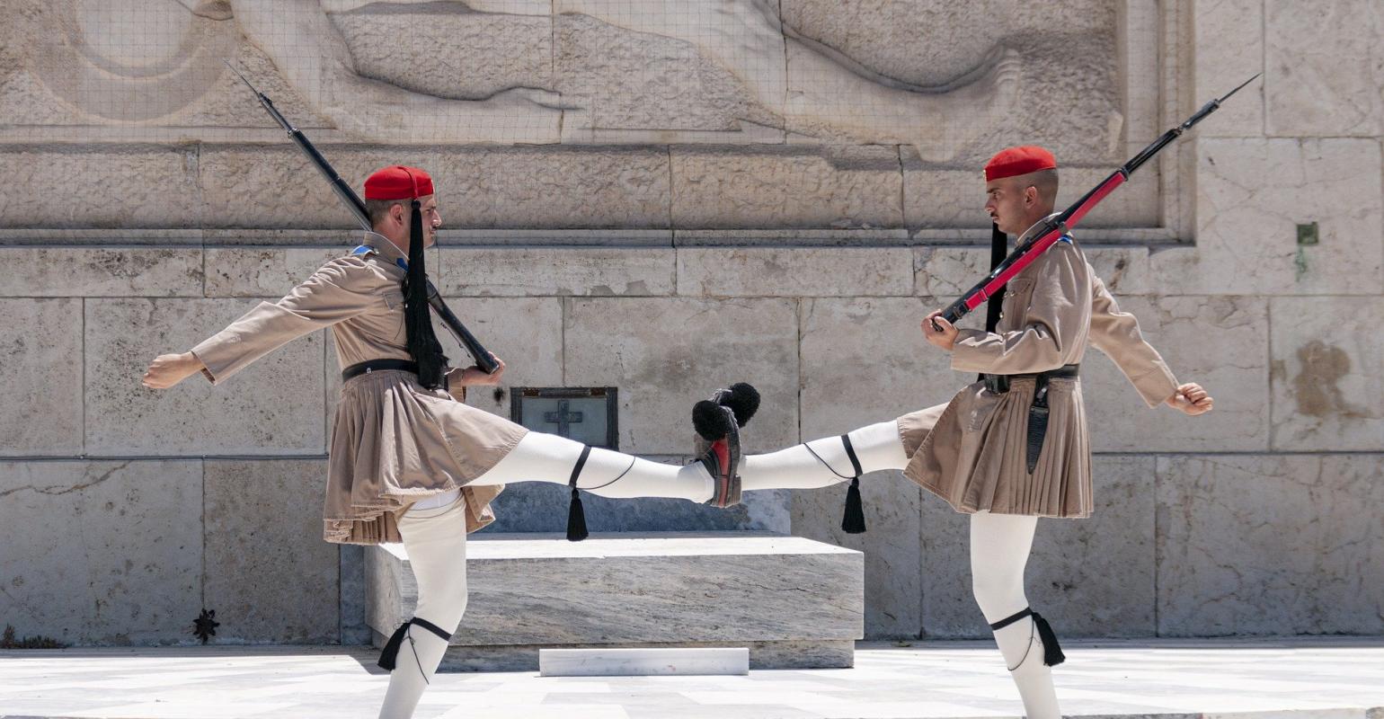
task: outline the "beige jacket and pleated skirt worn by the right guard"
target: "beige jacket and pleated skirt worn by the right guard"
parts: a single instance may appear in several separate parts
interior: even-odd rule
[[[1120,312],[1068,238],[1009,281],[994,332],[959,331],[952,369],[1041,373],[1081,363],[1088,344],[1114,360],[1150,407],[1176,392],[1176,378],[1145,342],[1138,320]],[[900,417],[911,454],[904,474],[962,513],[1091,515],[1091,442],[1081,381],[1049,382],[1048,434],[1030,474],[1026,450],[1032,396],[1031,378],[1013,380],[1006,393],[974,382],[948,405]]]

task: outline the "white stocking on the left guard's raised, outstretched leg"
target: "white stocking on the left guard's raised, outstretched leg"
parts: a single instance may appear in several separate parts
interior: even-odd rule
[[[565,485],[584,445],[544,432],[529,432],[489,472],[472,485],[508,482],[552,482]],[[692,501],[711,499],[711,475],[702,463],[682,467],[591,447],[577,488],[602,497],[674,497]]]

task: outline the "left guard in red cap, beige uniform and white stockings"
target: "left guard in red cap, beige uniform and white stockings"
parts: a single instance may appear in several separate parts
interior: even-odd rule
[[[220,385],[285,342],[331,327],[343,385],[328,459],[324,538],[354,544],[401,540],[408,551],[418,605],[381,658],[393,671],[381,716],[407,718],[466,607],[466,532],[493,521],[490,500],[505,482],[724,506],[710,471],[725,467],[710,459],[710,467],[674,467],[588,447],[458,402],[469,385],[498,382],[504,363],[494,374],[447,369],[433,335],[424,247],[436,240],[441,216],[432,179],[417,168],[385,168],[365,180],[365,206],[375,231],[361,247],[190,352],[156,357],[144,385],[166,389],[198,371]]]

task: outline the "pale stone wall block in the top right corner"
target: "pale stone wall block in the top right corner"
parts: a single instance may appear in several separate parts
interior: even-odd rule
[[[1269,134],[1384,133],[1378,3],[1265,3],[1264,35]]]

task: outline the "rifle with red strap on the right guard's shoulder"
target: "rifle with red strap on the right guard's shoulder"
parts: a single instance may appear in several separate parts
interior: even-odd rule
[[[1254,82],[1258,76],[1259,75],[1255,75],[1254,78],[1244,80],[1239,87],[1230,90],[1223,97],[1201,105],[1201,109],[1193,112],[1192,116],[1182,125],[1176,125],[1163,133],[1161,137],[1150,143],[1149,147],[1140,150],[1138,155],[1129,159],[1129,162],[1125,162],[1118,169],[1111,172],[1109,177],[1100,180],[1100,183],[1091,188],[1089,193],[1081,195],[1081,199],[1075,201],[1070,208],[1062,212],[1053,212],[1039,220],[1041,227],[1038,231],[1030,233],[1030,238],[1026,240],[1024,244],[1016,247],[1014,251],[1010,252],[1003,262],[996,265],[984,280],[967,290],[966,294],[956,299],[956,302],[948,305],[941,316],[945,317],[947,321],[956,324],[956,320],[978,308],[983,302],[995,295],[995,292],[999,292],[1005,284],[1009,283],[1009,280],[1012,280],[1028,265],[1032,265],[1032,262],[1037,260],[1038,256],[1042,255],[1049,247],[1056,244],[1057,240],[1062,240],[1062,236],[1067,234],[1070,227],[1081,222],[1081,218],[1085,218],[1088,212],[1106,198],[1106,195],[1113,193],[1116,187],[1124,184],[1133,170],[1139,169],[1139,166],[1153,158],[1153,155],[1157,155],[1160,150],[1176,140],[1182,133],[1190,130],[1193,125],[1204,121],[1207,115],[1215,112],[1221,107],[1221,103],[1225,103],[1230,96],[1239,93],[1240,89]],[[941,326],[937,324],[936,320],[933,321],[933,330],[941,331]]]

